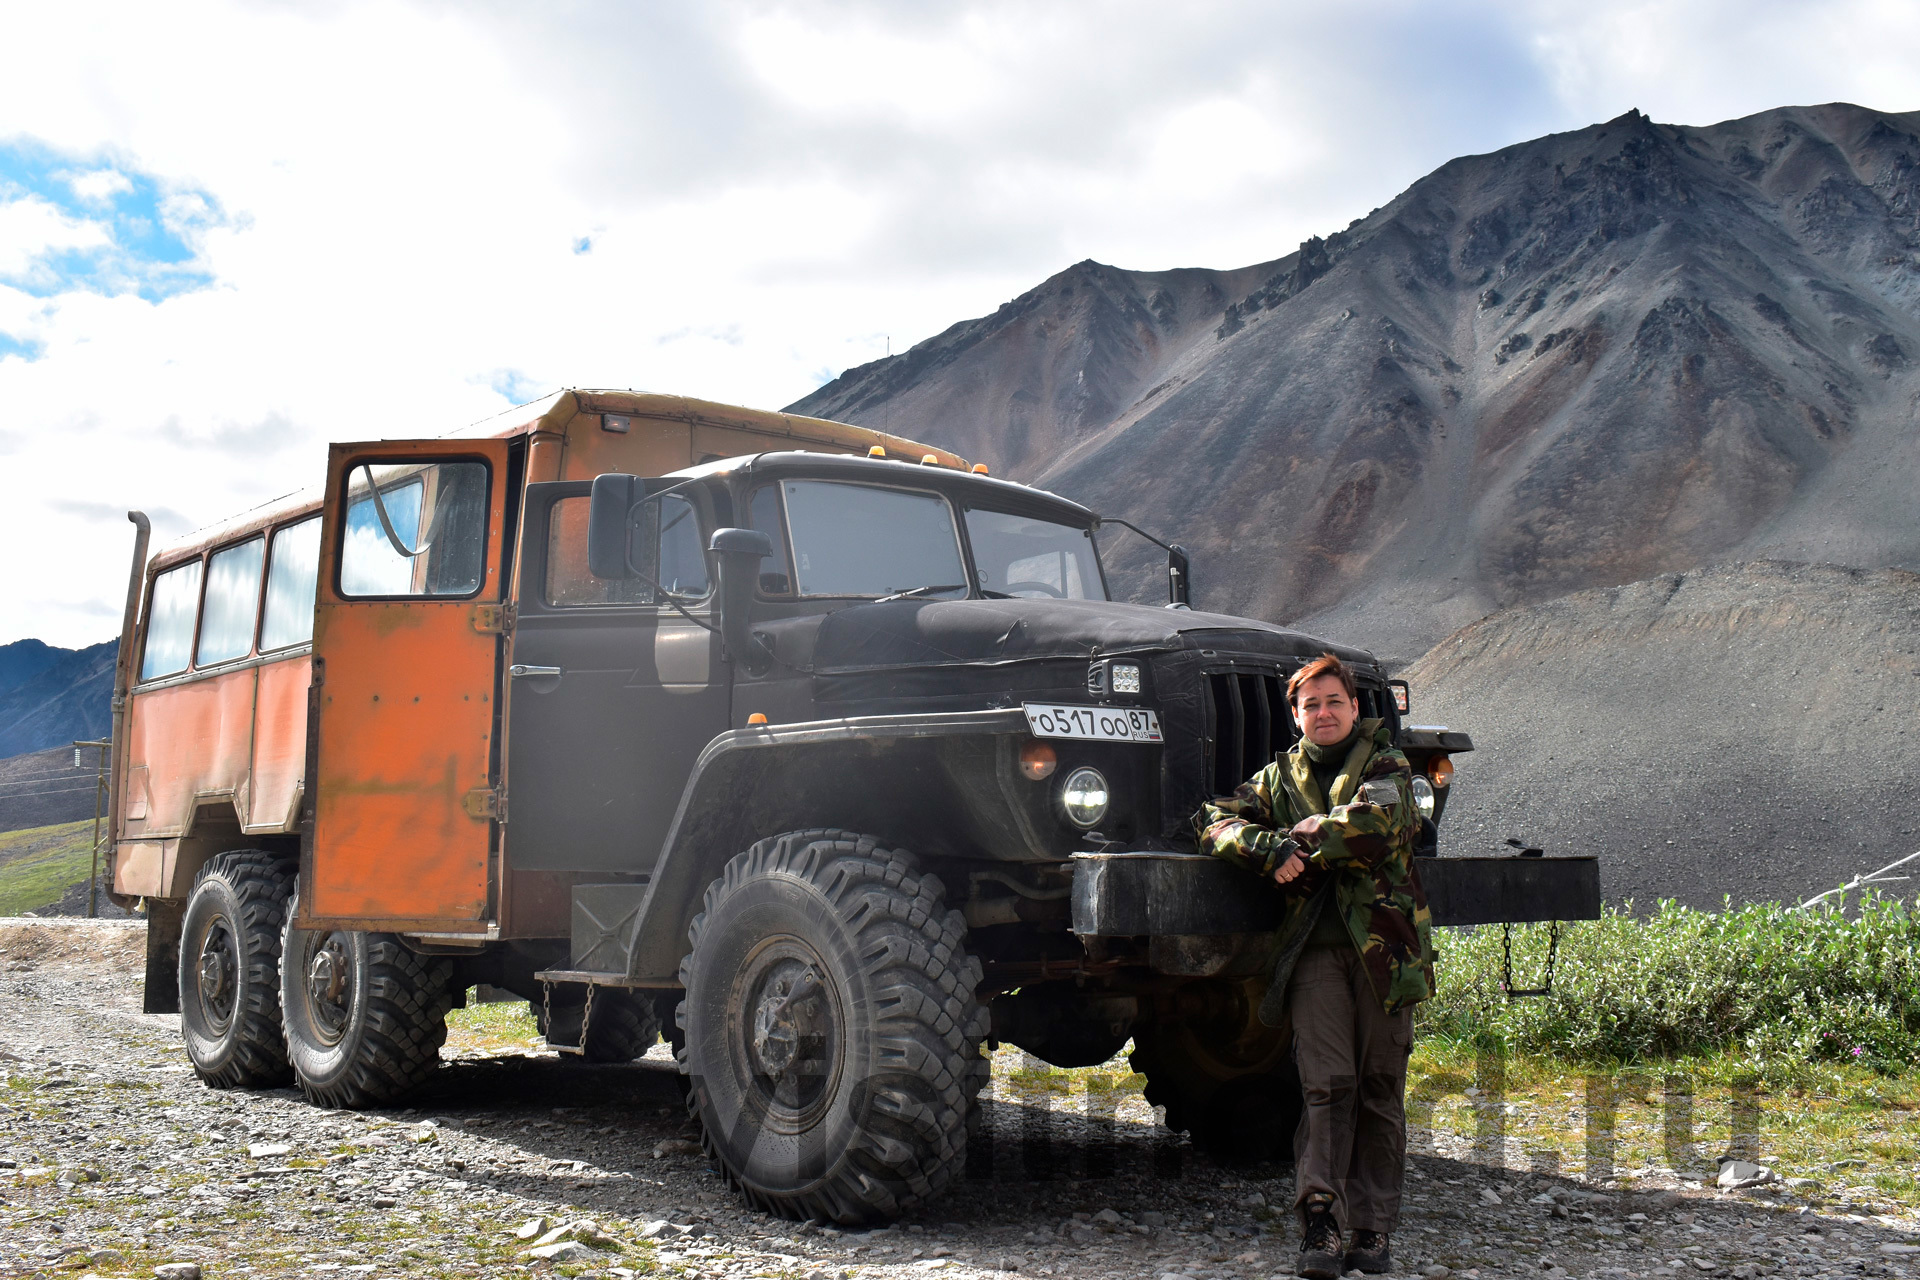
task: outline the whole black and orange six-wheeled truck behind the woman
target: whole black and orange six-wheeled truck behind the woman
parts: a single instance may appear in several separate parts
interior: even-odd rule
[[[939,1196],[983,1044],[1131,1040],[1171,1128],[1283,1150],[1279,896],[1188,818],[1290,747],[1323,649],[1415,764],[1440,923],[1597,913],[1590,860],[1430,856],[1473,743],[1369,654],[1194,612],[1179,547],[1165,608],[1116,603],[1102,518],[985,470],[563,391],[334,445],[321,493],[150,562],[142,526],[113,890],[148,1009],[209,1084],[336,1107],[424,1080],[482,983],[582,1059],[664,1034],[716,1163],[789,1217]]]

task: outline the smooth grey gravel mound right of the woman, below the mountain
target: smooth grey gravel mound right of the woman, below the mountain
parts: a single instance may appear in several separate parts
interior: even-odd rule
[[[1413,720],[1476,747],[1448,852],[1601,854],[1611,898],[1713,910],[1801,902],[1920,850],[1920,576],[1663,574],[1503,610],[1404,674]]]

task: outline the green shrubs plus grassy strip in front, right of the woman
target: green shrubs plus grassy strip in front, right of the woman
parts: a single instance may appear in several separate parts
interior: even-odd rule
[[[1513,979],[1546,971],[1513,929]],[[1513,1169],[1711,1184],[1757,1159],[1860,1213],[1920,1209],[1920,919],[1778,904],[1561,925],[1553,990],[1507,1000],[1500,927],[1448,929],[1419,1007],[1409,1132]],[[1419,1146],[1419,1140],[1417,1140]]]

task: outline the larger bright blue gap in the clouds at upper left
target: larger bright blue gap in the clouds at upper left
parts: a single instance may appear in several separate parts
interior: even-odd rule
[[[0,261],[0,284],[58,294],[138,294],[159,301],[213,284],[202,236],[227,223],[207,192],[156,178],[123,157],[0,142],[0,215],[25,263]],[[23,349],[19,340],[0,334]]]

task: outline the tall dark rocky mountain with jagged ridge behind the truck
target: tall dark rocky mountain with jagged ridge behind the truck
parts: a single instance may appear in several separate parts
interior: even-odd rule
[[[1740,558],[1920,566],[1920,113],[1626,115],[1240,271],[1079,263],[791,405],[1194,551],[1196,604],[1411,658]],[[1127,593],[1162,560],[1102,539]]]

